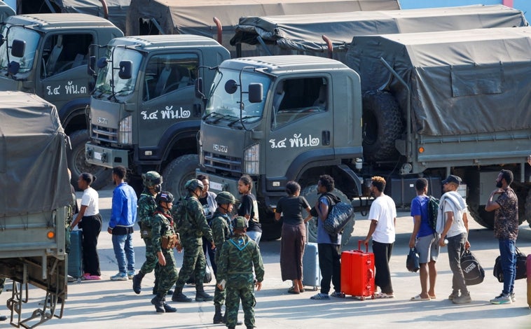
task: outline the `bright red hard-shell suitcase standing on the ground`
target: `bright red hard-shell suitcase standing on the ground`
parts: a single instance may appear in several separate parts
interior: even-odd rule
[[[341,253],[341,292],[361,300],[374,299],[374,253],[368,252],[368,244],[362,251],[361,242],[358,241],[358,250]]]

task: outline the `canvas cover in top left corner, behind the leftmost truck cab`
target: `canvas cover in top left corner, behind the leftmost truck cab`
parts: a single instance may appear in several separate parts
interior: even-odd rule
[[[20,1],[20,0],[19,0]],[[29,1],[28,1],[29,2]],[[129,10],[131,0],[49,0],[52,8],[43,10],[45,1],[35,1],[36,3],[20,3],[18,8],[29,10],[19,14],[32,13],[80,13],[98,16],[110,20],[118,29],[125,33],[125,16]],[[48,1],[46,1],[48,2]],[[104,6],[104,4],[106,6]]]

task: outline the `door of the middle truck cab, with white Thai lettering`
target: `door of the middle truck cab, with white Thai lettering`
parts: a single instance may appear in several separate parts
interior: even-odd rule
[[[140,149],[155,148],[172,125],[198,120],[200,113],[196,108],[199,102],[194,88],[198,65],[198,55],[190,52],[149,58],[141,87]]]

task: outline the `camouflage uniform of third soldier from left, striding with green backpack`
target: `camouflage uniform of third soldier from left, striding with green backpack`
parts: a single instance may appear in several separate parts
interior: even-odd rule
[[[205,253],[202,252],[202,237],[205,236],[208,241],[212,241],[212,230],[210,229],[207,218],[203,213],[203,207],[197,197],[188,194],[186,197],[186,212],[188,216],[184,219],[184,225],[177,228],[177,231],[181,235],[181,245],[184,250],[183,266],[179,271],[179,279],[175,283],[175,290],[172,297],[173,301],[184,302],[185,300],[178,300],[179,295],[182,295],[182,288],[186,279],[194,274],[195,290],[197,293],[204,293],[203,278],[205,277],[205,268],[207,262],[205,260]],[[172,209],[172,215],[174,218],[177,216],[183,216],[176,214],[176,205]],[[196,301],[204,301],[199,299],[198,294],[195,295]],[[212,300],[210,297],[209,300]],[[186,300],[186,302],[191,300]]]

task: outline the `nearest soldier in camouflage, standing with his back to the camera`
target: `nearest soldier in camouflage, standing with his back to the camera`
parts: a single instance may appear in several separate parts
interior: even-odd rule
[[[254,286],[262,288],[263,262],[260,248],[256,242],[247,237],[247,219],[237,217],[233,223],[234,235],[221,248],[218,261],[217,286],[226,288],[226,314],[228,328],[235,328],[240,299],[247,328],[254,328]],[[256,281],[253,277],[256,273]]]

